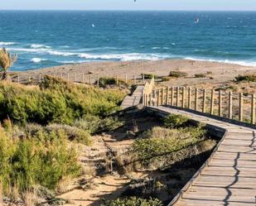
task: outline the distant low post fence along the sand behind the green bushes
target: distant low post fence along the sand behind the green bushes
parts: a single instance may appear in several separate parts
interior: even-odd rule
[[[99,74],[85,74],[85,73],[48,73],[48,74],[12,74],[12,82],[17,82],[20,84],[38,84],[41,82],[45,75],[50,75],[55,78],[65,79],[67,81],[72,81],[75,83],[85,83],[85,84],[97,84],[99,86],[99,79],[115,79],[115,83],[118,84],[119,81],[123,81],[125,84],[145,84],[145,75],[114,75],[106,76]]]

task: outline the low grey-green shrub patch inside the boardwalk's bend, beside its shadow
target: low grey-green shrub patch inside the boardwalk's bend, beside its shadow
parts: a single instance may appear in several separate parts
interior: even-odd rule
[[[204,151],[205,147],[208,150],[209,144],[204,147],[205,141],[208,140],[202,127],[180,129],[153,127],[134,141],[134,159],[141,164],[140,170],[145,168],[159,170],[186,157],[197,155],[200,151]]]

